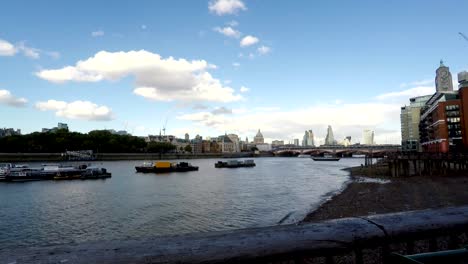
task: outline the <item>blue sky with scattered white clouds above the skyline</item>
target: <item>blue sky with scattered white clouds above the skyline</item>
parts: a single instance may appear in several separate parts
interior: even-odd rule
[[[466,70],[467,1],[5,1],[0,127],[400,143],[400,107]]]

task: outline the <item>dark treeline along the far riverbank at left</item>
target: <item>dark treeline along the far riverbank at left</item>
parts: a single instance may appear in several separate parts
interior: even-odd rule
[[[31,133],[0,138],[0,152],[4,153],[61,153],[67,150],[93,150],[95,153],[165,153],[175,149],[166,142],[146,143],[143,138],[116,135],[106,130],[88,134],[66,129],[48,133]]]

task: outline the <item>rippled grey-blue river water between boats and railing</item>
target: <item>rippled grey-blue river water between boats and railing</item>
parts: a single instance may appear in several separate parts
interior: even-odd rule
[[[302,220],[349,180],[348,158],[256,158],[254,168],[140,174],[141,161],[96,162],[106,180],[0,183],[0,247],[132,239]],[[35,164],[30,164],[34,166]],[[36,164],[37,165],[37,164]]]

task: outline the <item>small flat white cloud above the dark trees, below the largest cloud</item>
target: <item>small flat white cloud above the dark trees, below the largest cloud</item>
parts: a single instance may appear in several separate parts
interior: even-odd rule
[[[36,103],[41,111],[55,111],[55,115],[69,119],[109,121],[113,119],[112,110],[107,106],[98,106],[90,101],[64,102],[48,100]]]

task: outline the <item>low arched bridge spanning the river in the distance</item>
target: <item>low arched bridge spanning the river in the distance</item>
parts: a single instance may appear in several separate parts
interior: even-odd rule
[[[326,154],[336,155],[338,157],[352,157],[353,155],[372,155],[374,157],[383,157],[389,153],[401,151],[400,145],[352,145],[352,146],[278,146],[272,149],[275,156],[298,156],[313,155],[323,156]]]

